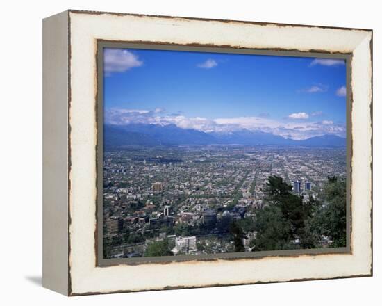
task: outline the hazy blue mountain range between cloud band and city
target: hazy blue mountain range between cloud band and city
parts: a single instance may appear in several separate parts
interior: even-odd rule
[[[263,131],[242,129],[230,133],[205,133],[196,129],[181,129],[175,124],[104,125],[105,147],[128,145],[155,147],[160,145],[299,145],[304,147],[345,147],[346,138],[335,135],[293,140]]]

